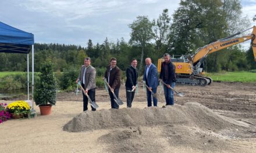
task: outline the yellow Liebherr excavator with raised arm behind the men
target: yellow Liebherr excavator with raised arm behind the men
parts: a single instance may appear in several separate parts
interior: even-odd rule
[[[242,37],[236,37],[236,35],[241,34],[253,29],[253,32],[248,35],[243,35]],[[236,45],[238,43],[251,40],[251,45],[253,46],[254,60],[256,61],[256,26],[248,28],[237,32],[236,34],[230,35],[226,38],[219,39],[216,42],[209,43],[202,48],[198,48],[193,55],[181,56],[179,59],[172,58],[172,63],[176,67],[176,83],[182,84],[191,84],[191,85],[200,85],[205,86],[209,85],[212,82],[212,79],[209,77],[203,76],[204,74],[204,63],[205,58],[208,54],[217,52],[219,50],[228,48],[229,46]],[[158,72],[161,71],[161,64],[164,59],[158,59]]]

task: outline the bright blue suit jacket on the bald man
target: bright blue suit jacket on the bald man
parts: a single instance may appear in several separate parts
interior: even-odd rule
[[[157,67],[154,64],[151,64],[150,70],[148,71],[148,77],[146,77],[146,72],[147,72],[147,65],[145,66],[143,81],[146,81],[147,79],[148,87],[157,88],[158,86]]]

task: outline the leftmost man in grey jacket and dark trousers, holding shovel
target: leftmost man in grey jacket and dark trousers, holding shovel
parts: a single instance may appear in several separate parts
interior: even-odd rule
[[[95,68],[91,65],[91,58],[86,57],[84,59],[84,65],[81,66],[81,71],[79,74],[79,77],[76,80],[76,83],[81,81],[81,85],[90,97],[92,101],[95,101],[95,88],[96,88],[96,83],[95,83],[95,76],[96,76],[96,70]],[[84,111],[88,110],[88,97],[83,93],[83,102],[84,102]],[[95,108],[91,107],[92,111],[96,111]]]

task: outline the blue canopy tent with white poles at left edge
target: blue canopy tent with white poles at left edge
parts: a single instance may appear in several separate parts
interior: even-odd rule
[[[34,93],[34,35],[0,21],[0,53],[27,54],[27,99],[29,100],[29,52],[32,50],[32,97]],[[34,103],[32,102],[32,109]]]

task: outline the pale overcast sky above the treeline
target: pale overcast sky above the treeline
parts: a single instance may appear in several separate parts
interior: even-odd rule
[[[137,16],[157,19],[163,9],[171,16],[179,0],[1,0],[0,21],[34,34],[37,43],[65,43],[86,47],[130,39],[130,28]],[[253,19],[256,0],[242,0],[243,16]],[[255,25],[256,23],[252,23]]]

